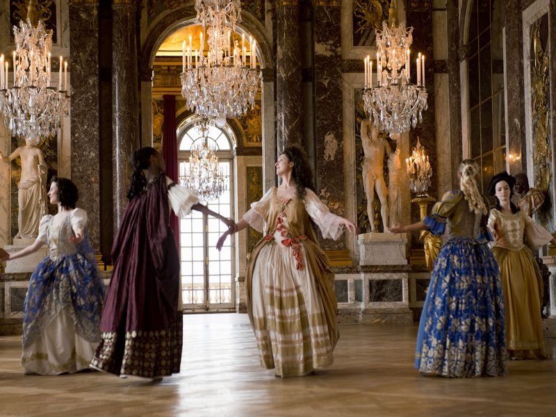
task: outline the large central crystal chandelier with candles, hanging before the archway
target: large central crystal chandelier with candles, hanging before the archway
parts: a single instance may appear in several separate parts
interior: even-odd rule
[[[239,0],[197,0],[197,19],[202,24],[199,50],[191,36],[183,41],[181,95],[186,106],[202,119],[225,120],[241,117],[254,108],[262,72],[256,72],[256,42],[250,39],[250,62],[247,63],[245,35],[233,39],[236,22],[241,21]],[[204,40],[208,54],[204,55]]]

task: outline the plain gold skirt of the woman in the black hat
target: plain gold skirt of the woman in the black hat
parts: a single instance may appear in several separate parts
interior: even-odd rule
[[[506,348],[511,359],[546,359],[541,324],[539,266],[528,247],[492,250],[502,275],[506,316]]]

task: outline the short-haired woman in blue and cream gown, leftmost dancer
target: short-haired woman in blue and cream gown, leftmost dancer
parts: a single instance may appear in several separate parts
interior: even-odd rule
[[[48,193],[58,214],[45,215],[30,247],[9,259],[50,247],[31,275],[23,310],[22,366],[26,375],[58,375],[89,368],[100,341],[104,282],[85,223],[75,208],[79,193],[72,181],[52,179]]]

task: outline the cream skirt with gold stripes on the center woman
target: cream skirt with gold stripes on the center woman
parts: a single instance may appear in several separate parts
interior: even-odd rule
[[[301,245],[304,260],[305,245],[311,243]],[[311,261],[303,263],[297,270],[290,247],[267,244],[253,270],[252,325],[259,358],[264,368],[274,368],[281,377],[306,375],[334,361],[337,329],[327,325]]]

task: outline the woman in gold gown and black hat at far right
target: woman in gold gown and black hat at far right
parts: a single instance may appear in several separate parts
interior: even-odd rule
[[[533,249],[556,244],[546,229],[511,202],[516,179],[507,172],[496,175],[489,191],[496,197],[488,227],[496,238],[492,252],[502,275],[506,316],[506,349],[511,359],[546,359],[541,326],[541,272],[524,243]]]

